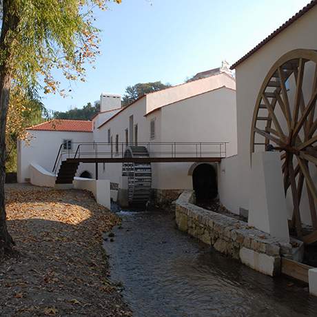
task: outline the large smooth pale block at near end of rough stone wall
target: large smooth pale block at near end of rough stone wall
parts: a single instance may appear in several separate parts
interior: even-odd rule
[[[279,256],[268,256],[267,254],[258,253],[252,249],[247,249],[246,247],[240,249],[239,256],[243,264],[258,272],[269,276],[280,274]]]

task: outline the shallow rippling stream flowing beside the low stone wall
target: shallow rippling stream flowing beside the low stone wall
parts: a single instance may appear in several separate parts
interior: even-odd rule
[[[307,285],[271,278],[176,229],[162,211],[121,211],[105,241],[111,279],[134,316],[317,316]]]

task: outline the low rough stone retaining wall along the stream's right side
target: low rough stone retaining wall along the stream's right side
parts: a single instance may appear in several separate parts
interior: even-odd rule
[[[292,258],[290,243],[193,203],[192,191],[183,192],[177,199],[175,215],[178,229],[212,245],[218,252],[269,276],[280,274],[280,256]]]

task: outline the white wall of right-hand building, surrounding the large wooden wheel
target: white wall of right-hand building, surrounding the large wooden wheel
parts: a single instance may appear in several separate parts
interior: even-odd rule
[[[269,69],[283,54],[298,48],[316,50],[316,30],[317,7],[314,7],[236,68],[238,163],[226,161],[226,169],[230,163],[239,167],[238,176],[232,180],[236,183],[238,195],[232,195],[227,187],[223,189],[225,201],[231,201],[234,206],[249,209],[250,133],[260,86]]]

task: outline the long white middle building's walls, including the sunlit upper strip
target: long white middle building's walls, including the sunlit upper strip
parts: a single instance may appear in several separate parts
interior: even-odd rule
[[[155,121],[154,137],[151,121]],[[228,142],[227,156],[236,154],[236,92],[235,80],[225,73],[167,88],[143,96],[94,129],[97,142],[112,141],[114,157],[116,137],[119,142],[127,140],[151,143],[155,152],[168,151],[156,142]],[[98,145],[108,149],[109,145]],[[192,149],[194,150],[194,148]],[[218,150],[217,147],[214,148]],[[121,163],[99,164],[99,178],[110,179],[120,186]],[[193,163],[152,163],[152,188],[159,190],[192,189],[189,174]]]

